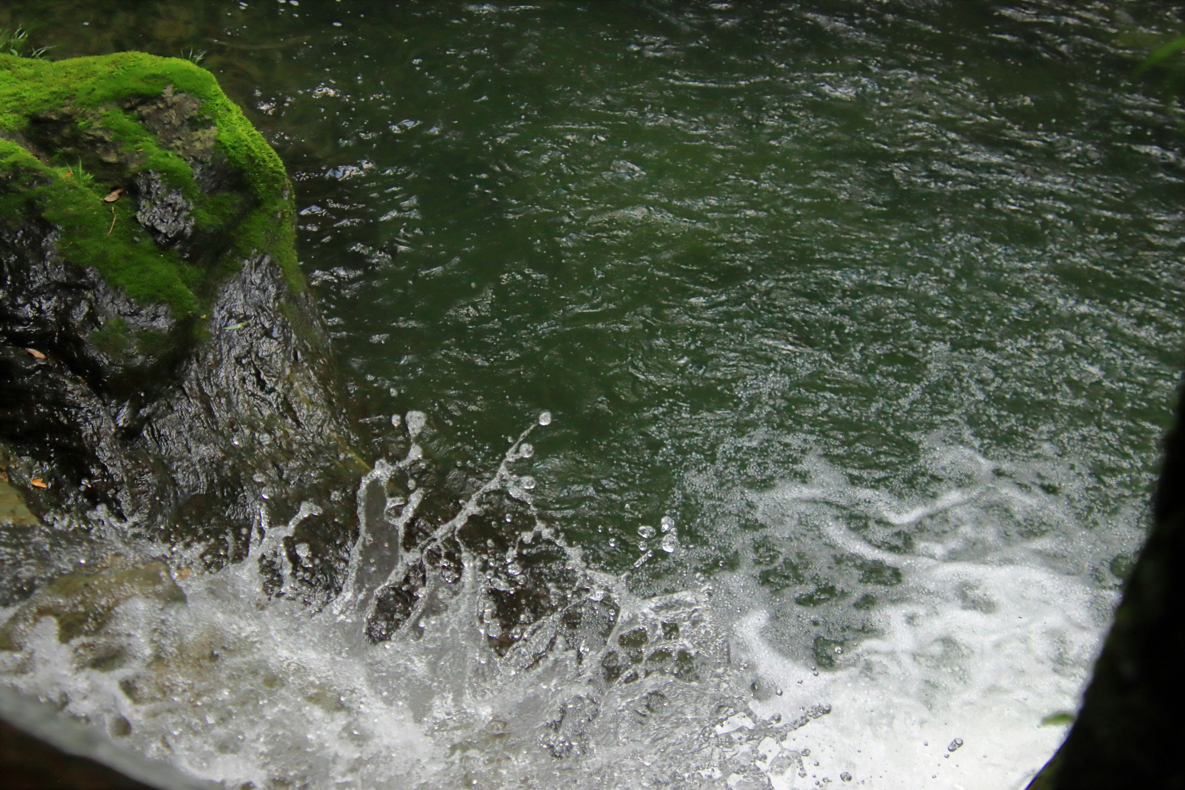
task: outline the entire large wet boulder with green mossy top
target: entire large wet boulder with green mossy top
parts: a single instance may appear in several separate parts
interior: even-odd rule
[[[0,458],[33,513],[218,565],[315,499],[307,576],[338,583],[364,464],[294,239],[283,163],[210,72],[0,56]]]

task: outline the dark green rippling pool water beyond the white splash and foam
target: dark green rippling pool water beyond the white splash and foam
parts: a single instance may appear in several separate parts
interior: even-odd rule
[[[1179,9],[1115,8],[21,1],[0,24],[56,57],[207,50],[290,168],[372,413],[425,412],[434,463],[483,477],[552,412],[537,501],[594,567],[671,514],[683,547],[638,590],[719,576],[826,667],[914,595],[828,525],[1102,591],[1138,545],[1185,168],[1180,113],[1129,75]]]

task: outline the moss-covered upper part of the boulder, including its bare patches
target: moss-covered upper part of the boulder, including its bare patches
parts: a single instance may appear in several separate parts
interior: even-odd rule
[[[260,252],[303,289],[283,163],[188,60],[0,54],[0,223],[30,217],[65,261],[178,321]]]

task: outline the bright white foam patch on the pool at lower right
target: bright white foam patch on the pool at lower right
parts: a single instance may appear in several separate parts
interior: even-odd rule
[[[755,763],[776,790],[819,786],[825,777],[845,784],[841,775],[867,788],[1023,788],[1064,738],[1066,725],[1043,720],[1077,708],[1115,592],[1043,560],[1082,546],[1064,500],[1019,489],[991,474],[994,464],[962,455],[984,474],[931,501],[902,502],[851,486],[822,463],[814,464],[809,483],[756,497],[774,533],[800,528],[809,514],[806,521],[830,546],[904,573],[904,584],[871,614],[819,614],[860,619],[864,631],[869,619],[875,625],[873,634],[845,643],[832,670],[813,667],[803,657],[809,651],[795,657],[776,647],[788,640],[811,644],[803,608],[769,596],[755,605],[749,579],[736,577],[729,596],[742,611],[736,647],[766,689],[751,714],[780,715],[786,730],[773,728],[764,758]],[[1005,537],[1026,521],[1049,521],[1051,513],[1062,533],[1029,541]],[[878,534],[869,519],[896,527],[940,514],[943,537],[918,541],[911,553],[884,551],[864,537]],[[864,535],[852,524],[865,525]],[[812,709],[827,713],[803,720]],[[786,726],[795,721],[802,726]]]

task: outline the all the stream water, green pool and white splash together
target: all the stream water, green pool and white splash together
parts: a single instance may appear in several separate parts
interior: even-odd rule
[[[233,788],[1016,788],[1056,749],[1180,362],[1181,118],[1128,79],[1170,4],[8,5],[57,57],[209,51],[356,398],[606,614],[500,656],[470,566],[373,644],[361,544],[331,605],[262,595],[277,525],[174,550],[115,668],[44,618],[7,682]]]

